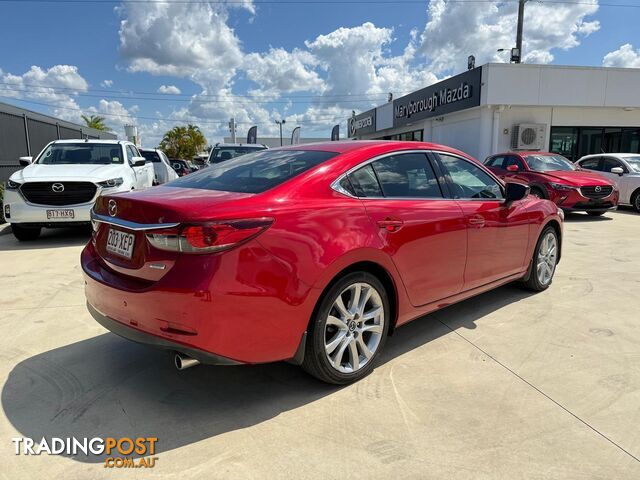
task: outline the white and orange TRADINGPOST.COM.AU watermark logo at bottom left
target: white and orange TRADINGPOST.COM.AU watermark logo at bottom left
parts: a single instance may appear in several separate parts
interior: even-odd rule
[[[156,453],[156,437],[94,437],[94,438],[60,438],[42,437],[39,442],[28,437],[16,437],[11,441],[16,455],[106,455],[105,468],[153,468],[158,457]],[[131,455],[139,457],[134,459]]]

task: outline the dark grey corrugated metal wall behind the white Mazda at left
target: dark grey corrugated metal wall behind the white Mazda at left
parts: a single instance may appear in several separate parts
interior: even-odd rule
[[[20,169],[19,158],[36,157],[51,141],[74,138],[115,139],[111,132],[100,132],[64,120],[0,103],[0,182]]]

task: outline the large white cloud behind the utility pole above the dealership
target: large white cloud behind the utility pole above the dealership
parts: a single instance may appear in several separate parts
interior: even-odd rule
[[[567,50],[600,28],[585,18],[598,10],[589,4],[528,3],[525,7],[523,61],[549,63],[552,49]],[[429,21],[421,36],[421,52],[435,74],[464,70],[469,55],[478,64],[508,61],[515,45],[517,3],[447,3],[431,0]]]

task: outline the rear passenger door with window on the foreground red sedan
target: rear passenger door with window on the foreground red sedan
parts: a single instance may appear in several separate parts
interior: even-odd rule
[[[385,250],[415,306],[462,289],[467,253],[463,213],[446,198],[426,151],[394,153],[351,173]]]

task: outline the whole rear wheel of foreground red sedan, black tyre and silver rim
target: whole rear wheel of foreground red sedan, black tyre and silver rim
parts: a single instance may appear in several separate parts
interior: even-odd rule
[[[373,370],[390,322],[389,297],[380,280],[368,272],[345,275],[319,300],[302,368],[336,385],[360,380]]]

